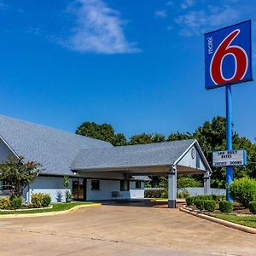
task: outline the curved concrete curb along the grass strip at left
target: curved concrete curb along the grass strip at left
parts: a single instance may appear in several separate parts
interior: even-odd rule
[[[81,205],[81,206],[75,206],[68,210],[59,211],[59,212],[38,212],[38,213],[18,213],[18,214],[0,214],[0,219],[2,218],[30,218],[30,217],[44,217],[44,216],[55,216],[55,215],[61,215],[66,214],[70,212],[74,212],[76,210],[79,210],[81,208],[85,207],[100,207],[102,204],[100,203],[94,203],[90,205]]]

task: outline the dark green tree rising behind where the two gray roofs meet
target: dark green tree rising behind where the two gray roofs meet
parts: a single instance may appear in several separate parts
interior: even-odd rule
[[[126,144],[126,138],[123,133],[114,133],[112,125],[98,125],[94,122],[84,122],[79,125],[76,134],[93,137],[104,142],[113,144],[113,146],[123,146]]]

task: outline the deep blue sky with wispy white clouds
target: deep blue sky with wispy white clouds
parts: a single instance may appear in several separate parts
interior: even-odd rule
[[[72,132],[108,123],[128,138],[193,132],[225,115],[224,88],[204,87],[204,32],[252,19],[256,49],[255,9],[255,0],[0,0],[0,113]],[[255,83],[232,87],[235,130],[253,142]]]

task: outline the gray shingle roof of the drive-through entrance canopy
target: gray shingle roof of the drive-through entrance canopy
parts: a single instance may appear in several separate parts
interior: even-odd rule
[[[75,171],[126,166],[172,165],[192,143],[195,143],[194,139],[170,143],[85,149],[76,156],[71,169]]]

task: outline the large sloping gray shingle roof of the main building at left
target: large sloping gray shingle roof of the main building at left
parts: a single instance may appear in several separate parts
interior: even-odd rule
[[[0,115],[0,137],[15,154],[38,161],[44,166],[44,173],[53,175],[72,175],[69,167],[81,149],[113,147],[90,137],[3,115]]]

